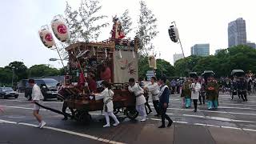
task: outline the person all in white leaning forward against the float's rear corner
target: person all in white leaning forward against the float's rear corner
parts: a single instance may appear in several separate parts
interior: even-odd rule
[[[145,109],[145,103],[146,98],[144,97],[144,90],[138,85],[138,83],[135,83],[134,78],[129,79],[129,85],[128,90],[131,93],[134,93],[136,97],[136,110],[138,111],[138,114],[142,116],[141,122],[146,121],[146,109]]]

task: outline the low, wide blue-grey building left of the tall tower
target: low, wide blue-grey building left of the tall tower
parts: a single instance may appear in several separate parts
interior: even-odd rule
[[[191,47],[191,55],[209,56],[210,55],[210,44],[195,44]]]

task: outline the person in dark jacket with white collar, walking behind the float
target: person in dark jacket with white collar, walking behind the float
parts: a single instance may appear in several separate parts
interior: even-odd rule
[[[166,86],[166,77],[159,78],[159,83],[161,84],[159,92],[159,110],[162,117],[162,126],[159,126],[158,128],[165,128],[165,119],[169,121],[167,127],[170,127],[173,123],[170,117],[166,114],[166,110],[169,104],[170,90],[169,87]]]

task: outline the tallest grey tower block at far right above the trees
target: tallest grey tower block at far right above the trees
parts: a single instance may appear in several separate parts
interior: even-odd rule
[[[229,47],[246,45],[246,21],[238,18],[228,26]]]

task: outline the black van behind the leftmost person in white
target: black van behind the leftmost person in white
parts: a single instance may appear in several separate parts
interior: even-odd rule
[[[41,78],[41,79],[35,79],[34,82],[40,86],[42,95],[44,97],[43,100],[46,100],[48,98],[57,98],[57,84],[58,81],[52,78]],[[32,94],[32,87],[29,86],[28,82],[26,83],[26,89],[25,89],[25,97],[27,100],[31,100],[31,94]]]

